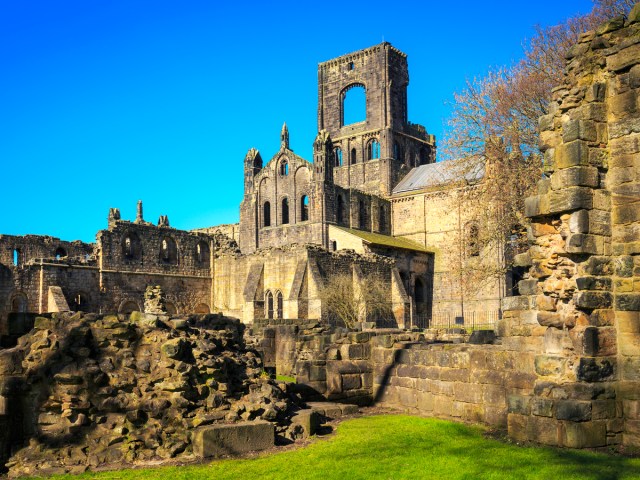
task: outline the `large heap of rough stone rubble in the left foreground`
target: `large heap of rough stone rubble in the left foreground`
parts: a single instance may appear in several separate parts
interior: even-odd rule
[[[0,384],[24,418],[5,441],[26,447],[6,464],[12,477],[188,457],[194,429],[214,423],[301,433],[287,387],[265,378],[243,325],[220,315],[41,316],[0,351]]]

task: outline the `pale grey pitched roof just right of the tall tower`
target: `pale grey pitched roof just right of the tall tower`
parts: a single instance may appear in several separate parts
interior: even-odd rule
[[[484,176],[484,165],[465,160],[428,163],[413,168],[393,189],[393,193],[422,190],[458,181],[475,183]]]

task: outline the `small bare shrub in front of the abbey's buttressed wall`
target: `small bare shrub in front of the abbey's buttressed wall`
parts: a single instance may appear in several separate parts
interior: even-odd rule
[[[329,317],[341,320],[348,328],[393,314],[389,283],[377,276],[358,283],[352,274],[332,275],[320,288],[319,297]]]

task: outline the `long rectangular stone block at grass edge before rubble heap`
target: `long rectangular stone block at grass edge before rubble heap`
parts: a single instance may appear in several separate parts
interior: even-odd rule
[[[268,422],[211,425],[194,432],[193,453],[199,458],[239,455],[271,448],[274,440],[275,428]]]

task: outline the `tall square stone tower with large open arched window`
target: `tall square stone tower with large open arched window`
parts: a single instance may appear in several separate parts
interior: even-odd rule
[[[407,117],[407,56],[383,42],[318,65],[318,131],[335,148],[338,186],[389,196],[413,167],[435,161],[435,137]],[[345,125],[345,99],[365,93],[364,121]]]

